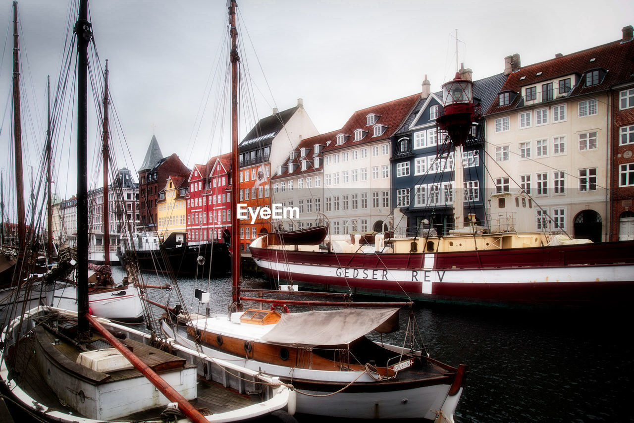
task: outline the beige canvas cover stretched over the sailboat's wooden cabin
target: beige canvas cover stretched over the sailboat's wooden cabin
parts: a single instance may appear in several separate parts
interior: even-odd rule
[[[262,341],[294,346],[342,345],[376,329],[398,308],[307,311],[281,316]]]

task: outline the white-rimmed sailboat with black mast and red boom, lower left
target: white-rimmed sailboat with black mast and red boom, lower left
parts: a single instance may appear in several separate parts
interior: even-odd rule
[[[89,314],[86,109],[87,48],[92,32],[87,0],[79,5],[75,34],[78,310],[39,306],[4,327],[0,335],[0,391],[4,405],[21,418],[27,415],[38,421],[69,423],[165,419],[226,422],[255,419],[286,407],[292,413],[292,396],[275,377],[214,360],[171,342],[157,342],[150,334]],[[159,344],[162,349],[152,346]],[[242,391],[245,384],[259,387],[263,401],[234,402],[230,408],[235,409],[219,410],[219,401],[214,405],[218,386],[210,382],[218,380],[219,374],[224,386]],[[221,391],[223,397],[228,394],[222,387]],[[196,400],[195,405],[191,400]],[[226,403],[226,398],[220,402]]]

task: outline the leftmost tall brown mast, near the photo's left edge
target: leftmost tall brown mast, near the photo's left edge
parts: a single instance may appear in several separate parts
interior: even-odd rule
[[[13,2],[13,134],[15,136],[15,185],[18,205],[18,242],[20,254],[26,245],[26,213],[22,171],[22,123],[20,122],[20,48],[18,48],[18,2]]]

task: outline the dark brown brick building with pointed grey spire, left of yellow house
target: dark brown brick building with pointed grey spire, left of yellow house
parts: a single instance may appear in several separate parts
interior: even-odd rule
[[[159,141],[152,135],[139,174],[139,217],[145,230],[157,230],[157,201],[159,191],[165,188],[170,176],[188,176],[190,169],[181,162],[176,153],[162,157]]]

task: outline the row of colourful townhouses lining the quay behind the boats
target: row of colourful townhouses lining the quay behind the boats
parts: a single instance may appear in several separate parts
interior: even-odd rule
[[[138,227],[162,238],[227,241],[234,201],[299,210],[299,218],[241,220],[243,249],[273,228],[322,219],[333,238],[373,230],[416,236],[424,226],[442,235],[487,225],[492,196],[525,192],[534,209],[526,230],[634,238],[632,39],[628,26],[614,42],[540,63],[507,56],[500,74],[482,79],[462,67],[477,119],[455,151],[437,130],[443,96],[426,76],[418,93],[358,110],[328,133],[318,132],[301,99],[274,109],[240,143],[239,198],[228,189],[229,155],[189,169],[176,154],[163,157],[153,136],[138,172]],[[455,210],[456,196],[463,210]]]

